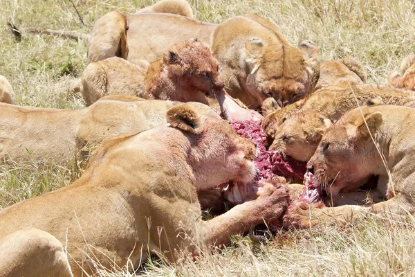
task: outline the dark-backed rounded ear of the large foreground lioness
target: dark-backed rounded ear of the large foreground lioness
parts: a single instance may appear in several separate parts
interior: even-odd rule
[[[176,105],[167,110],[167,122],[172,127],[177,127],[185,132],[192,134],[199,133],[199,126],[201,123],[200,116],[191,107],[183,104]]]

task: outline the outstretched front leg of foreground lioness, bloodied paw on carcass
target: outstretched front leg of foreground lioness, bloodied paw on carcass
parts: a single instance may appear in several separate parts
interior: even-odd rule
[[[227,213],[200,222],[196,228],[199,244],[221,245],[229,242],[230,235],[246,232],[251,226],[275,222],[285,213],[289,195],[286,186],[266,184],[257,193],[258,198],[234,206]]]

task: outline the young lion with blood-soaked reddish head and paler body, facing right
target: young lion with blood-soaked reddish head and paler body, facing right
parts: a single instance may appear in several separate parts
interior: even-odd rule
[[[119,57],[93,62],[82,73],[82,96],[87,105],[109,94],[146,99],[195,101],[223,89],[218,61],[207,43],[190,39],[175,44],[143,69]]]

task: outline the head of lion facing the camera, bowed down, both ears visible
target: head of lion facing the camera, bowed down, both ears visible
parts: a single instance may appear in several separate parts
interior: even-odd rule
[[[284,107],[310,91],[319,48],[311,43],[303,44],[300,49],[304,53],[286,44],[265,45],[257,38],[246,42],[246,63],[250,71],[246,85],[260,105],[272,97]]]

